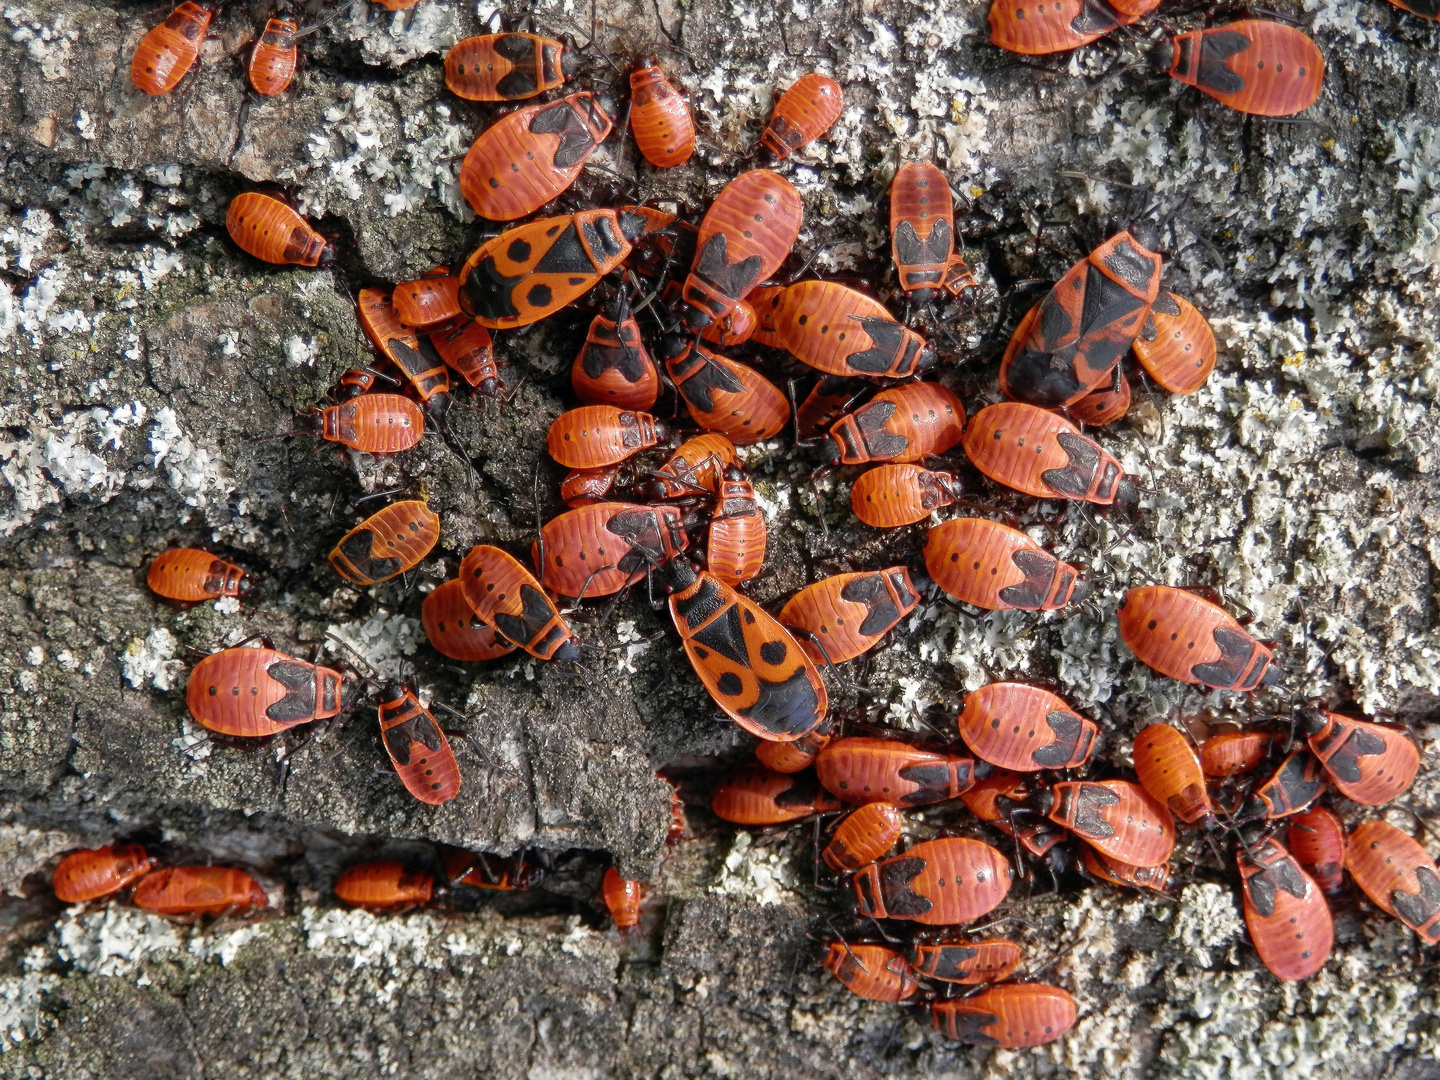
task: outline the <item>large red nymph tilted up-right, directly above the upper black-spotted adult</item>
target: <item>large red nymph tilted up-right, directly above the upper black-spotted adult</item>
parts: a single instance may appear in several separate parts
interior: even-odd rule
[[[611,127],[588,91],[516,109],[485,128],[465,154],[461,194],[492,222],[534,213],[575,183]]]

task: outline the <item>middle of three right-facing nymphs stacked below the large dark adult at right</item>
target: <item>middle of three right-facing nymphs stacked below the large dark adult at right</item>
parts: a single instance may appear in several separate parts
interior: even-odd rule
[[[981,517],[933,526],[924,569],[956,600],[986,611],[1058,611],[1090,595],[1080,567],[1056,559],[1018,528]]]

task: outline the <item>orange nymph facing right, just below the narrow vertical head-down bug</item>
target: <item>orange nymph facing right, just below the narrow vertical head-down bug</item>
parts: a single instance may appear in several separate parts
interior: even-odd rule
[[[834,281],[802,281],[772,302],[773,344],[825,374],[907,379],[935,350],[883,304]]]

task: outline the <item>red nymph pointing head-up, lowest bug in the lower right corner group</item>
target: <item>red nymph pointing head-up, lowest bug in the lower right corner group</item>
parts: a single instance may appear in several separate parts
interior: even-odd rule
[[[1310,876],[1273,838],[1236,852],[1246,929],[1264,966],[1295,982],[1325,966],[1335,943],[1331,909]]]

